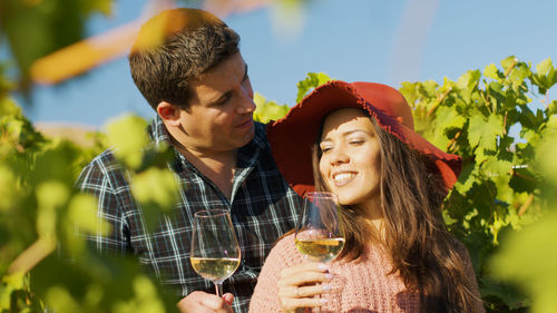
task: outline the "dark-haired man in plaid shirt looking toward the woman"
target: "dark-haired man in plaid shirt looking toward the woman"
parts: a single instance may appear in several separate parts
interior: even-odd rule
[[[175,149],[169,168],[180,185],[178,218],[160,216],[158,228],[146,233],[110,150],[96,157],[79,180],[82,192],[98,196],[100,216],[115,229],[90,237],[95,246],[136,255],[184,296],[182,312],[247,312],[266,254],[299,214],[300,198],[278,174],[264,126],[253,121],[253,90],[238,41],[211,13],[173,9],[144,25],[129,55],[134,81],[157,111],[153,140]],[[194,213],[217,207],[229,211],[242,250],[222,299],[188,260]]]

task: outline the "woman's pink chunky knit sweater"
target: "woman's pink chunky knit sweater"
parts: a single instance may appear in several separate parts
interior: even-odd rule
[[[365,254],[355,262],[333,261],[330,271],[334,274],[331,282],[333,290],[324,293],[329,302],[321,312],[345,313],[416,313],[419,312],[419,295],[407,291],[397,274],[389,275],[392,267],[385,251],[379,245],[370,245]],[[479,296],[476,276],[471,267],[468,252],[466,257],[467,276],[473,280],[472,285]],[[250,304],[250,312],[281,312],[276,283],[283,268],[306,262],[294,246],[294,235],[282,238],[267,256],[255,286]],[[478,302],[473,312],[485,312]]]

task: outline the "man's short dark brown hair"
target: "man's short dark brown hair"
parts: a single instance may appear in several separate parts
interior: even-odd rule
[[[198,9],[172,9],[148,20],[128,56],[131,77],[149,105],[187,107],[188,82],[236,53],[240,36]]]

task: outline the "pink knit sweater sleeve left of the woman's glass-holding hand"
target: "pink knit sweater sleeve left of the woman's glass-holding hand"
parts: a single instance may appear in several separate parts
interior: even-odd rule
[[[293,235],[285,236],[271,250],[261,274],[257,285],[250,302],[251,313],[281,312],[278,303],[278,288],[276,283],[281,277],[282,270],[301,263],[301,258],[294,248]]]

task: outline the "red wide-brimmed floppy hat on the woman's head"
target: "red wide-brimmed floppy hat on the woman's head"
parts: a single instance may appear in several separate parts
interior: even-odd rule
[[[275,163],[299,195],[314,190],[312,146],[321,131],[323,118],[341,108],[363,109],[381,128],[430,157],[447,189],[452,188],[460,174],[462,158],[444,153],[414,133],[412,110],[397,89],[374,82],[333,80],[315,88],[284,118],[267,125]]]

